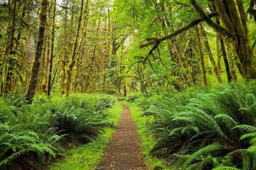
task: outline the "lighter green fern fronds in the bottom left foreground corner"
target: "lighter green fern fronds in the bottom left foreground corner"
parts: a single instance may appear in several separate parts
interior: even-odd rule
[[[55,138],[54,142],[58,139],[60,137]],[[18,157],[31,152],[56,157],[58,149],[49,143],[50,141],[45,143],[34,131],[24,131],[24,129],[19,129],[19,126],[11,127],[7,124],[0,124],[0,167],[5,167]]]

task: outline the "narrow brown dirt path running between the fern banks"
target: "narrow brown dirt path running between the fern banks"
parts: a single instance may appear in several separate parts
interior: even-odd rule
[[[123,106],[118,129],[105,150],[105,155],[97,170],[146,170],[140,156],[140,141],[130,108]]]

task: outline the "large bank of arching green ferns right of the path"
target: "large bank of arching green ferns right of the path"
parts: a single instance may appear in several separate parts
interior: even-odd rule
[[[255,92],[249,82],[143,98],[152,153],[183,169],[256,169]]]

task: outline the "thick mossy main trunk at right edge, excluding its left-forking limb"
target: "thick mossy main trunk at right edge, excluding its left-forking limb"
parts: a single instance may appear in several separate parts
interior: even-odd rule
[[[253,51],[249,46],[246,14],[243,1],[237,1],[238,9],[234,0],[214,0],[216,10],[222,23],[232,39],[232,48],[237,56],[237,67],[246,79],[256,78],[256,67],[253,62]]]

